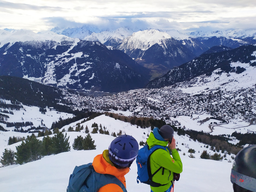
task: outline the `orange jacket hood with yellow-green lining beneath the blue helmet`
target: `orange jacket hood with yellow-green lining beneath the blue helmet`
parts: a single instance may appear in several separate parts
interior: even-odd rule
[[[97,173],[114,175],[117,178],[124,176],[129,172],[129,168],[118,169],[110,161],[108,150],[104,150],[102,154],[94,157],[92,165]]]

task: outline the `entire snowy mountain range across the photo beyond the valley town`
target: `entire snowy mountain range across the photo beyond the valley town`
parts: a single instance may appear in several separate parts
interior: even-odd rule
[[[156,29],[101,31],[86,26],[45,33],[5,29],[0,30],[0,74],[63,88],[118,92],[143,88],[149,80],[214,46],[234,49],[255,43],[255,30],[185,34]]]

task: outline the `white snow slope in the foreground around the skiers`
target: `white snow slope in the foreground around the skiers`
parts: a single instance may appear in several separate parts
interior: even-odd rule
[[[79,121],[78,121],[79,122]],[[104,115],[85,122],[83,125],[88,125],[90,131],[92,130],[92,123],[98,123],[105,126],[111,133],[112,131],[122,130],[123,133],[130,134],[139,142],[145,141],[149,129],[141,129],[119,120],[115,120]],[[70,126],[74,126],[77,122]],[[145,132],[145,134],[144,134]],[[8,133],[8,134],[7,134]],[[16,143],[7,146],[7,140],[11,135],[17,136],[17,132],[1,132],[1,148],[0,153],[4,148],[15,150]],[[67,132],[69,136],[70,145],[78,136],[86,136],[83,132]],[[19,135],[20,136],[20,135]],[[103,150],[107,149],[114,137],[110,135],[91,134],[95,141],[96,150],[89,151],[75,151],[71,147],[70,152],[65,152],[57,155],[45,156],[41,160],[26,163],[24,165],[11,165],[0,168],[0,188],[4,192],[61,192],[65,191],[68,185],[69,176],[74,167],[77,165],[87,164],[93,161],[94,156],[101,154]],[[232,192],[232,184],[230,182],[230,171],[232,163],[227,160],[214,161],[199,159],[205,148],[203,144],[190,140],[187,136],[174,135],[176,144],[181,151],[179,152],[182,163],[183,172],[179,181],[175,182],[175,191],[187,192],[191,189],[197,192],[216,191],[216,183],[218,183],[218,191]],[[40,138],[42,139],[42,138]],[[5,141],[4,141],[5,140]],[[3,142],[4,141],[4,142]],[[196,150],[194,154],[196,158],[189,158],[188,149]],[[185,155],[183,155],[185,153]],[[230,156],[228,156],[230,158]],[[196,176],[196,181],[194,178]],[[149,185],[139,183],[137,184],[137,165],[134,162],[131,166],[130,172],[126,175],[127,191],[150,191]]]

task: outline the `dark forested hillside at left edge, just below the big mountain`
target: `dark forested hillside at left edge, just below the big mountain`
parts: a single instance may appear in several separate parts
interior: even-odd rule
[[[0,99],[10,100],[12,106],[1,103],[2,108],[22,108],[20,103],[41,108],[54,107],[63,112],[73,112],[70,107],[57,104],[63,98],[62,91],[27,79],[0,76]]]

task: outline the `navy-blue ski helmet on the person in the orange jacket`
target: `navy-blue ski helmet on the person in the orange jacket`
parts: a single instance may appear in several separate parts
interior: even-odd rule
[[[130,135],[121,135],[111,142],[108,156],[116,167],[130,167],[138,151],[139,144],[136,139]]]

